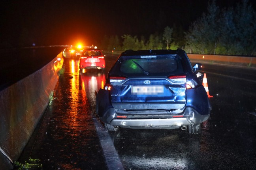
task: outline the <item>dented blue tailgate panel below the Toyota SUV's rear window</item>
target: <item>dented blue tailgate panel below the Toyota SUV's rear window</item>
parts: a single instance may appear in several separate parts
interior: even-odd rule
[[[186,104],[185,84],[168,78],[127,78],[111,88],[111,103],[116,109],[180,109]]]

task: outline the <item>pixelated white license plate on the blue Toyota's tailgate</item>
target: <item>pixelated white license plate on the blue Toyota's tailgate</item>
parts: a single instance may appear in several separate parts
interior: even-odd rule
[[[161,94],[164,86],[132,86],[132,94]]]

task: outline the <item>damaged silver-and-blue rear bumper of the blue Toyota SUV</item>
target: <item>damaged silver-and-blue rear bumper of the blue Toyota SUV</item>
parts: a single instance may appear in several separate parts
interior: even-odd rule
[[[179,114],[180,115],[180,114]],[[150,116],[150,115],[148,115]],[[201,115],[191,107],[185,109],[183,117],[171,118],[169,115],[161,115],[154,118],[124,119],[117,118],[114,108],[109,108],[100,120],[113,126],[120,126],[134,129],[179,129],[182,126],[198,125],[208,120],[209,114]]]

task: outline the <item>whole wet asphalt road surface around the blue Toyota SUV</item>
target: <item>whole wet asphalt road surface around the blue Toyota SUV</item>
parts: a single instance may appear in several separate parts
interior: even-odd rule
[[[106,56],[106,73],[116,59],[110,58]],[[105,74],[79,75],[77,66],[77,60],[65,60],[65,73],[55,89],[57,99],[47,108],[19,161],[41,159],[44,170],[107,169],[106,149],[98,137],[99,131],[107,132],[94,125],[99,123],[94,91],[104,86]],[[201,135],[156,129],[109,133],[124,169],[254,169],[256,71],[216,65],[203,68],[213,110]]]

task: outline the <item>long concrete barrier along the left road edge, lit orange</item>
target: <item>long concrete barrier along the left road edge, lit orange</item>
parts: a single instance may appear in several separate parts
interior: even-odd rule
[[[62,53],[40,70],[0,91],[0,169],[13,162],[26,146],[38,121],[49,105],[62,68]]]

